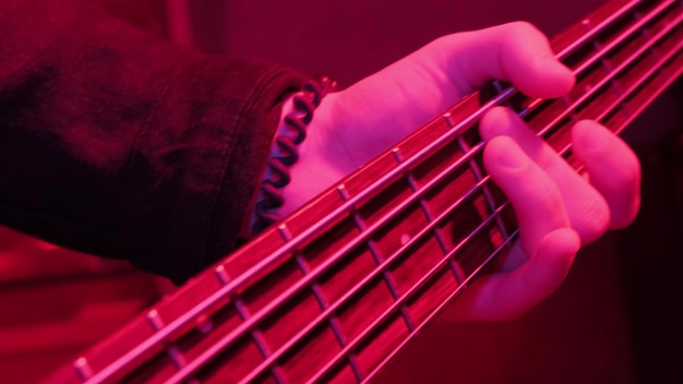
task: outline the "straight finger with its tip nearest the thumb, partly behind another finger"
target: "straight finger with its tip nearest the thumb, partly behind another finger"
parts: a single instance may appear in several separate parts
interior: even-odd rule
[[[607,231],[610,226],[610,206],[606,196],[586,183],[513,110],[502,107],[492,109],[481,120],[480,131],[487,141],[499,135],[512,137],[548,173],[560,189],[572,228],[579,233],[584,244],[597,240]]]

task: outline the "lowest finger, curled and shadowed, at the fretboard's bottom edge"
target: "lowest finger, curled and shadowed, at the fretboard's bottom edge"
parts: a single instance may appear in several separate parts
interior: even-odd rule
[[[580,247],[570,228],[548,233],[534,256],[511,273],[482,276],[465,289],[442,320],[512,320],[548,298],[565,279]]]

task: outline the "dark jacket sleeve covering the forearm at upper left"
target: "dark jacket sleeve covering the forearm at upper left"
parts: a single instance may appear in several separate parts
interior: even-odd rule
[[[181,283],[236,247],[303,80],[77,0],[3,0],[0,223]]]

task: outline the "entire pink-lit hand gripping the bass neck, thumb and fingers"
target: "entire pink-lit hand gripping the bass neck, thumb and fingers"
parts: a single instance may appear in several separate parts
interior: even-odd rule
[[[574,76],[547,38],[526,23],[454,34],[328,95],[309,127],[285,189],[292,212],[313,195],[431,120],[491,79],[529,96],[560,97]],[[284,113],[290,110],[287,104]],[[572,132],[587,173],[575,173],[511,111],[481,122],[484,165],[519,217],[520,239],[500,271],[478,279],[445,314],[448,320],[506,320],[525,313],[564,280],[577,250],[635,218],[640,169],[633,152],[592,121]]]

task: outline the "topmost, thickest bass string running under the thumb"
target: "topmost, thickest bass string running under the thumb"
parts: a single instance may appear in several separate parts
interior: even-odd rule
[[[564,57],[568,56],[571,52],[573,52],[576,49],[578,49],[586,40],[589,40],[589,39],[594,38],[597,34],[599,34],[604,28],[607,28],[611,23],[613,23],[615,20],[618,20],[621,15],[623,15],[626,12],[631,11],[633,8],[635,8],[639,3],[640,3],[640,1],[631,1],[631,2],[628,2],[622,9],[620,9],[616,13],[614,13],[611,17],[607,19],[606,21],[600,23],[598,26],[596,26],[594,29],[591,29],[590,33],[584,35],[582,38],[577,39],[574,44],[572,44],[568,47],[566,47],[565,49],[563,49],[558,55],[558,57],[559,58],[564,58]],[[668,2],[668,3],[671,3],[671,2]],[[459,133],[464,128],[468,127],[474,121],[478,120],[484,112],[487,112],[488,110],[490,110],[494,106],[501,104],[502,101],[506,100],[508,97],[512,96],[512,94],[514,92],[516,92],[516,89],[514,89],[513,87],[510,87],[505,92],[503,92],[502,94],[498,95],[494,99],[492,99],[491,101],[487,103],[483,107],[481,107],[477,112],[471,115],[468,119],[464,120],[457,127],[455,127],[451,131],[446,132],[446,134],[444,134],[441,137],[441,140],[438,140],[438,141],[433,142],[431,145],[429,145],[428,147],[423,148],[418,154],[416,154],[414,157],[411,157],[408,161],[404,163],[402,166],[397,167],[392,172],[390,172],[385,177],[383,177],[380,180],[378,180],[374,184],[372,184],[370,187],[370,189],[369,189],[370,191],[367,191],[368,193],[361,193],[361,194],[350,199],[347,203],[345,203],[344,205],[342,205],[337,209],[333,211],[333,213],[331,213],[328,216],[325,217],[325,219],[323,219],[324,224],[328,224],[332,220],[338,218],[349,207],[354,206],[360,200],[367,197],[370,192],[372,192],[372,191],[383,187],[384,184],[388,183],[393,179],[393,177],[395,175],[400,173],[400,172],[407,170],[415,163],[417,163],[418,160],[420,160],[424,156],[427,156],[429,153],[431,153],[435,147],[440,146],[442,143],[444,143],[445,141],[450,140],[454,134]],[[475,148],[475,149],[477,149],[477,148]],[[274,253],[271,257],[267,257],[263,262],[259,263],[254,267],[254,269],[255,271],[262,271],[263,268],[267,267],[268,265],[271,265],[272,263],[274,263],[275,261],[280,259],[283,255],[286,255],[286,253],[291,251],[296,245],[298,245],[302,241],[305,241],[311,235],[312,235],[312,229],[302,232],[301,235],[299,235],[298,237],[292,239],[291,242],[287,243],[285,247],[283,247],[276,253]],[[151,336],[149,338],[147,338],[137,348],[135,348],[135,349],[131,350],[130,352],[123,355],[121,358],[117,359],[111,364],[109,364],[108,367],[106,367],[105,369],[103,369],[101,371],[96,373],[95,375],[93,375],[87,382],[88,383],[101,382],[106,377],[112,375],[116,371],[118,371],[122,367],[125,367],[128,363],[130,363],[142,351],[147,350],[147,349],[152,348],[154,345],[160,343],[170,333],[172,333],[173,331],[176,331],[180,326],[187,324],[189,321],[194,319],[196,315],[201,314],[202,311],[205,310],[208,305],[211,305],[212,303],[216,302],[217,300],[219,300],[220,298],[225,297],[226,295],[229,295],[229,293],[233,292],[236,290],[236,288],[239,287],[241,284],[243,284],[248,278],[249,278],[249,276],[241,276],[241,277],[236,278],[235,280],[231,281],[231,284],[229,284],[226,287],[219,289],[217,292],[215,292],[214,295],[209,296],[206,300],[204,300],[201,303],[199,303],[197,305],[195,305],[192,310],[188,311],[184,315],[181,315],[178,319],[176,319],[173,322],[169,323],[168,326],[166,326],[164,329],[160,329],[158,333],[156,333],[153,336]]]

